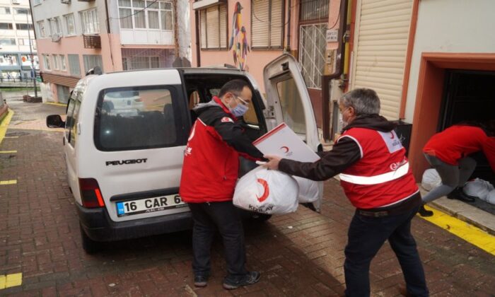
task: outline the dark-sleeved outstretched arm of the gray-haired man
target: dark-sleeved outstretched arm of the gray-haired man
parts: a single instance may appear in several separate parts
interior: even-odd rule
[[[332,151],[322,154],[322,158],[313,163],[281,159],[279,170],[290,175],[305,177],[310,180],[327,180],[342,173],[346,168],[361,158],[361,150],[349,137],[342,137]]]

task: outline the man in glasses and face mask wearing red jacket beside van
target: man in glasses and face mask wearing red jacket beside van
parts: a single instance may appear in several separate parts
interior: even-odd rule
[[[236,119],[245,114],[251,99],[248,83],[235,79],[221,88],[218,97],[193,109],[198,117],[187,141],[179,192],[189,204],[194,221],[194,286],[207,284],[216,229],[223,238],[228,270],[223,288],[236,289],[260,280],[260,272],[245,269],[244,231],[232,203],[239,156],[262,159],[262,153],[251,144]]]

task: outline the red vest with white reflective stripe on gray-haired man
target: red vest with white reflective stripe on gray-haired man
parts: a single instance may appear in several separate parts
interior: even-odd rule
[[[388,206],[419,191],[405,148],[394,131],[351,128],[343,137],[356,141],[361,150],[361,159],[339,175],[344,192],[356,208]]]

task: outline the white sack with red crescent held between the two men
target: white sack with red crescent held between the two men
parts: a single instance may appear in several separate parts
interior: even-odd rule
[[[251,170],[235,185],[233,204],[261,214],[296,211],[299,186],[290,175],[262,166]]]

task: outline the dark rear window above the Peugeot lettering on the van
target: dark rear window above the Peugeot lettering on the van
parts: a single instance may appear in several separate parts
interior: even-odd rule
[[[102,91],[95,122],[101,151],[180,145],[180,110],[173,89],[112,88]]]

